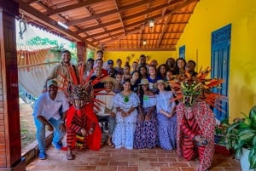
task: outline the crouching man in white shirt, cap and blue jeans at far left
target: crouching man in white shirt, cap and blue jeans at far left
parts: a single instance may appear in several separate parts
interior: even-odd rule
[[[69,108],[66,95],[58,92],[57,82],[49,79],[46,85],[47,92],[38,97],[33,111],[39,146],[38,157],[41,160],[46,159],[45,126],[49,131],[54,131],[52,145],[56,150],[61,150],[59,142],[66,134],[65,120]]]

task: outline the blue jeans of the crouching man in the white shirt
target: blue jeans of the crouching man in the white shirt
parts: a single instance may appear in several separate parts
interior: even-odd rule
[[[45,124],[41,123],[41,121],[38,120],[37,117],[34,117],[34,121],[35,121],[36,128],[37,128],[37,140],[38,140],[39,151],[45,151],[46,150]],[[57,144],[62,139],[62,137],[66,134],[66,133],[62,133],[61,129],[60,129],[61,118],[59,120],[55,120],[54,118],[49,118],[48,122],[54,128],[54,138],[53,138],[52,142]]]

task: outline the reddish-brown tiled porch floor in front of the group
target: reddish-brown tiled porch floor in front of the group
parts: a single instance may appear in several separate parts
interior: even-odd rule
[[[100,151],[75,150],[75,160],[67,161],[66,151],[50,146],[46,160],[35,159],[27,171],[196,171],[198,162],[185,161],[175,151],[111,149],[103,145]],[[231,156],[215,154],[211,171],[241,171]]]

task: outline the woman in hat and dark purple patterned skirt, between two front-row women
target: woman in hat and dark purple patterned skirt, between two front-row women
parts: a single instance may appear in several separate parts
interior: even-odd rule
[[[154,93],[149,91],[148,79],[142,79],[140,86],[140,105],[134,135],[134,148],[154,148],[158,142],[156,98]]]

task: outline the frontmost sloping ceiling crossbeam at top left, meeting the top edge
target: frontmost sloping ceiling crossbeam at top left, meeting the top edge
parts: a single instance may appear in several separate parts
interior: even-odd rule
[[[75,4],[72,4],[72,5],[68,5],[66,7],[61,7],[61,8],[58,8],[58,9],[49,10],[45,14],[47,14],[48,16],[53,15],[53,14],[60,14],[60,13],[67,12],[67,11],[72,10],[72,9],[78,9],[78,8],[81,8],[81,7],[88,7],[91,4],[101,3],[101,2],[102,2],[102,0],[87,0],[87,1],[79,2],[79,3],[75,3]]]

